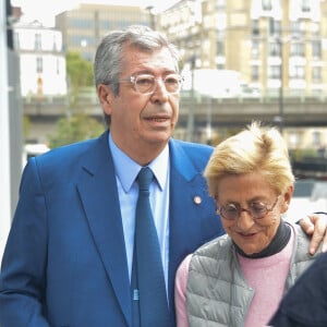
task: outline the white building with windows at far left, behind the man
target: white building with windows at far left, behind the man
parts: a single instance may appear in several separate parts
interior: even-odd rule
[[[68,94],[61,32],[39,22],[14,25],[14,49],[20,56],[24,98]]]

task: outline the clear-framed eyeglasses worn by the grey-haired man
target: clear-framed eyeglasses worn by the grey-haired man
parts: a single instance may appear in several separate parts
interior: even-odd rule
[[[141,74],[120,80],[119,82],[130,82],[134,84],[134,88],[136,92],[144,95],[150,95],[155,93],[159,80],[164,82],[166,90],[168,93],[178,94],[181,90],[183,77],[179,74],[169,74],[165,77],[155,77],[154,75],[149,74]]]

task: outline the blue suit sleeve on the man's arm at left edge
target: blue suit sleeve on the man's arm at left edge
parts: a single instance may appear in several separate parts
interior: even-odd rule
[[[0,326],[45,327],[47,210],[34,158],[27,164],[0,274]]]

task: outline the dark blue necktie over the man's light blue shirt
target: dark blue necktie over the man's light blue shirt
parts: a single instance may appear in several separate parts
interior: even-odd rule
[[[134,326],[168,327],[171,325],[164,268],[149,204],[149,184],[153,178],[148,167],[142,168],[137,175],[140,191],[132,268],[133,319]]]

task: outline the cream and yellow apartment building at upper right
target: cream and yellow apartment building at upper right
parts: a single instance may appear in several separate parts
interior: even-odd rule
[[[231,70],[262,95],[325,95],[327,2],[182,0],[157,19],[193,69]]]

